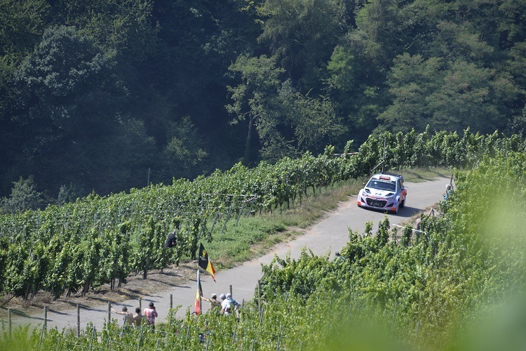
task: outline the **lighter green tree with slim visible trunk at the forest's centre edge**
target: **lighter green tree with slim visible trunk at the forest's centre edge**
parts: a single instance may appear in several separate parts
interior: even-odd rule
[[[228,87],[234,102],[227,110],[236,116],[234,123],[248,119],[245,162],[250,161],[252,128],[262,157],[271,162],[306,150],[321,152],[344,132],[332,101],[299,93],[290,79],[281,82],[283,69],[273,58],[241,55],[230,69],[240,77],[237,86]]]

